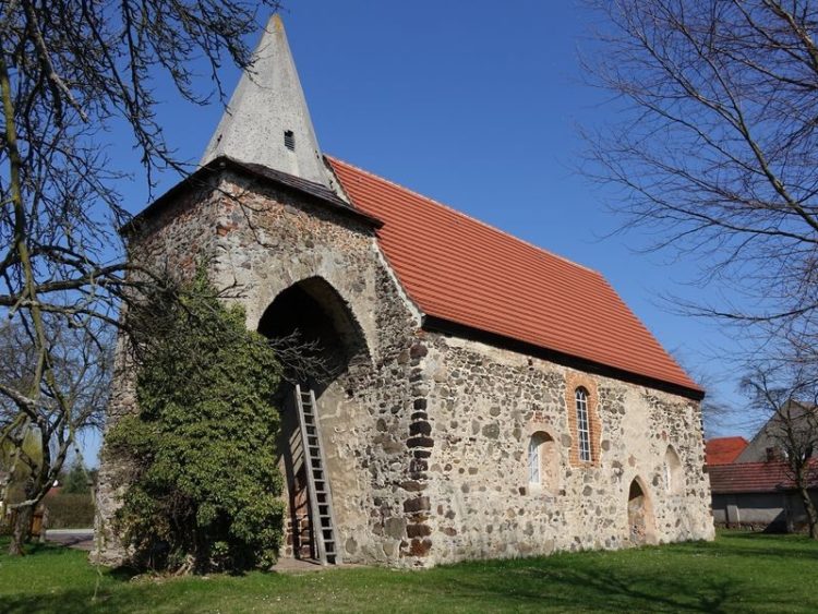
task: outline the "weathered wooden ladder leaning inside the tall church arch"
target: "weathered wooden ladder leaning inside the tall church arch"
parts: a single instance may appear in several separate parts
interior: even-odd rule
[[[340,565],[340,549],[335,535],[333,495],[324,460],[324,445],[321,441],[315,394],[296,385],[296,406],[301,428],[301,444],[306,468],[306,489],[310,494],[310,520],[315,550],[322,565]]]

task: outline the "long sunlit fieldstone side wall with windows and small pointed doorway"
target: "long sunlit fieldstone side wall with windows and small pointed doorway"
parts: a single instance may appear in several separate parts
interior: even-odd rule
[[[435,564],[631,545],[635,479],[654,518],[649,541],[712,539],[697,402],[477,341],[431,334],[423,346],[429,394],[416,400],[424,407],[416,431],[428,487],[409,529]],[[590,463],[575,452],[577,385],[592,397]],[[542,489],[528,483],[537,432],[558,450],[557,483]],[[678,491],[665,483],[669,445],[684,465]]]

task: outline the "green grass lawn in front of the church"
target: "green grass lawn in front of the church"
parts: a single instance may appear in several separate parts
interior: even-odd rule
[[[724,532],[713,543],[413,573],[160,580],[98,571],[60,546],[16,559],[7,547],[0,540],[0,612],[818,612],[818,543],[795,535]]]

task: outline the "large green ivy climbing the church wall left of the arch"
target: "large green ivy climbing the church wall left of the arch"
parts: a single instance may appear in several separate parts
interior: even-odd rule
[[[273,349],[204,272],[156,322],[137,375],[140,412],[106,440],[133,461],[115,530],[143,568],[267,567],[285,516]]]

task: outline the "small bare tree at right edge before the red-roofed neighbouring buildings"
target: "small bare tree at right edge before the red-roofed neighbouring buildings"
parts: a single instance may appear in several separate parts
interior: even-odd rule
[[[811,366],[811,365],[810,365]],[[798,492],[807,516],[809,537],[818,539],[818,510],[811,492],[818,492],[818,378],[809,368],[792,363],[757,366],[744,386],[754,408],[770,420],[763,435]]]

